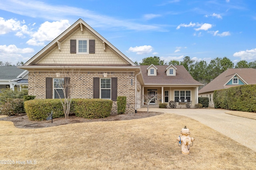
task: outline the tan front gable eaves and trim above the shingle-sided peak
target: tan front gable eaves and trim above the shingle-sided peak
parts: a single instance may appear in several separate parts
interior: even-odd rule
[[[34,57],[32,57],[30,60],[28,60],[23,66],[19,66],[20,68],[26,69],[27,66],[31,66],[33,64],[38,63],[46,54],[50,53],[53,49],[55,49],[58,46],[59,42],[64,41],[66,38],[68,38],[74,31],[77,29],[82,30],[82,25],[86,27],[86,30],[95,35],[98,39],[100,39],[102,42],[105,43],[105,45],[108,45],[110,49],[112,49],[117,55],[122,57],[125,61],[127,61],[130,65],[136,66],[128,57],[126,57],[122,52],[120,52],[116,47],[114,47],[110,42],[108,42],[104,37],[102,37],[97,31],[95,31],[92,27],[90,27],[86,22],[84,22],[82,19],[77,20],[73,25],[71,25],[68,29],[66,29],[63,33],[61,33],[56,39],[54,39],[52,42],[50,42],[46,47],[44,47],[41,51],[39,51]]]

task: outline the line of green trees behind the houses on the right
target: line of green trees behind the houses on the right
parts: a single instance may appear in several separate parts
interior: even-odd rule
[[[211,82],[228,68],[256,68],[256,61],[248,63],[245,60],[241,60],[234,66],[234,63],[227,57],[217,57],[212,59],[210,63],[207,63],[203,60],[195,61],[186,56],[183,61],[172,60],[167,63],[164,60],[161,60],[160,57],[154,56],[142,59],[141,63],[138,63],[137,61],[134,63],[136,65],[183,65],[195,80],[204,85]]]

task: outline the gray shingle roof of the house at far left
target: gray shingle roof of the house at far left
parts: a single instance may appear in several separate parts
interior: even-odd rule
[[[15,79],[25,70],[18,68],[17,66],[0,66],[0,80],[12,80]]]

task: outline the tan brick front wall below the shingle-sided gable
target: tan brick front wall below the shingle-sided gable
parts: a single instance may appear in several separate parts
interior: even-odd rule
[[[70,77],[75,85],[73,98],[93,98],[93,78],[117,77],[117,96],[126,96],[126,113],[135,113],[135,73],[132,71],[30,71],[28,76],[28,95],[36,99],[46,98],[46,77]],[[131,84],[131,80],[133,84]],[[53,90],[52,90],[53,91]],[[113,102],[111,113],[117,112],[117,104]]]

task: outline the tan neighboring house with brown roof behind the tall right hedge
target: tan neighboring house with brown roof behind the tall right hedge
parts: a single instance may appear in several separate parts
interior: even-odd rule
[[[218,77],[199,90],[198,96],[209,98],[209,107],[214,107],[213,92],[241,86],[246,84],[256,84],[256,69],[254,68],[228,68]]]

